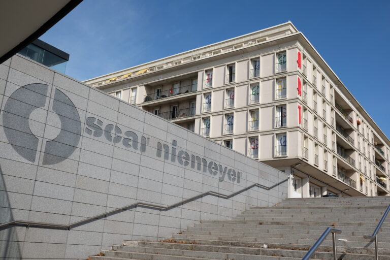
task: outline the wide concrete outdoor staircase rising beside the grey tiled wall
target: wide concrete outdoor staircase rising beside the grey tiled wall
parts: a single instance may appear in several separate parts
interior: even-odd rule
[[[339,259],[375,259],[371,235],[390,197],[286,199],[274,207],[251,208],[232,220],[202,221],[171,239],[124,241],[91,260],[297,260],[329,226],[337,235]],[[390,216],[378,235],[379,259],[390,260]],[[332,236],[313,259],[333,259]]]

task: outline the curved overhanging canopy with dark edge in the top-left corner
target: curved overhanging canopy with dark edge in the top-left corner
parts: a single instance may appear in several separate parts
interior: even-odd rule
[[[82,1],[0,1],[0,64],[42,36]]]

